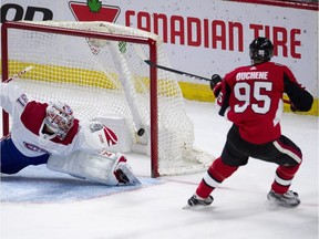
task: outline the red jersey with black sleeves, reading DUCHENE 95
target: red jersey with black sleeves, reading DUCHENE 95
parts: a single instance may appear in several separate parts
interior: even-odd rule
[[[240,136],[253,144],[268,143],[281,135],[285,92],[300,111],[309,111],[313,101],[287,66],[272,62],[235,69],[222,84],[219,114],[237,125]]]

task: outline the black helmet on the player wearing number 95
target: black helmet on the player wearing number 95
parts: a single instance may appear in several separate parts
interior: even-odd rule
[[[268,38],[257,38],[249,44],[251,60],[270,61],[274,55],[274,45]]]

